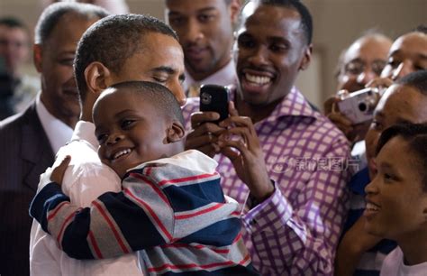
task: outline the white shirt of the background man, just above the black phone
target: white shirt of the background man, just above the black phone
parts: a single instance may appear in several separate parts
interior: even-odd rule
[[[219,86],[229,86],[235,85],[237,83],[237,74],[236,74],[236,66],[233,60],[230,60],[223,69],[213,73],[211,76],[204,78],[202,80],[196,81],[194,78],[190,76],[188,71],[185,72],[186,80],[184,81],[183,87],[188,96],[188,91],[190,87],[197,86],[200,87],[204,84],[215,84]],[[193,96],[195,97],[195,96]]]

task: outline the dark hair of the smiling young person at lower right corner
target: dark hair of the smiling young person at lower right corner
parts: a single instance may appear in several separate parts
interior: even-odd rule
[[[395,124],[387,128],[379,137],[376,155],[397,136],[404,138],[410,152],[416,156],[416,164],[422,175],[422,190],[427,192],[427,124]]]

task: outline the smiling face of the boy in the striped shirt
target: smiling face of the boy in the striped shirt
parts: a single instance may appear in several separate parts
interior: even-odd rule
[[[123,178],[142,162],[168,156],[167,121],[130,89],[111,89],[94,109],[101,161]]]

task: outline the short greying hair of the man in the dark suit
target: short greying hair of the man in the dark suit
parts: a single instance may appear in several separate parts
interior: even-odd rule
[[[42,45],[49,39],[51,32],[65,14],[77,14],[78,16],[90,20],[92,18],[104,18],[109,13],[104,8],[97,5],[74,2],[53,3],[44,9],[39,17],[34,33],[35,43]]]

